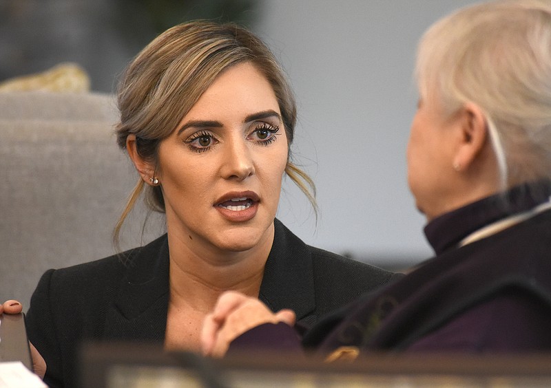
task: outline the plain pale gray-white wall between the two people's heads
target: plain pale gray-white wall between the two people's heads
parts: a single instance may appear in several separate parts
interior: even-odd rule
[[[256,32],[298,100],[294,154],[318,187],[320,219],[287,184],[278,217],[304,241],[366,261],[432,253],[406,184],[415,48],[467,0],[265,0]]]

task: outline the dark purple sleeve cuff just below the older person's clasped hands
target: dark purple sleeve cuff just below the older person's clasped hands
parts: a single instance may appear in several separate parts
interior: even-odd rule
[[[302,354],[301,339],[298,332],[287,323],[264,323],[241,334],[229,345],[227,355],[269,350],[269,352],[291,352]]]

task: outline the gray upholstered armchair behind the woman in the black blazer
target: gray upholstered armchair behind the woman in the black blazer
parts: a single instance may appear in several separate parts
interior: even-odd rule
[[[41,274],[115,252],[112,230],[137,173],[116,146],[114,97],[96,93],[0,93],[0,302],[28,308]],[[127,219],[121,248],[164,232]]]

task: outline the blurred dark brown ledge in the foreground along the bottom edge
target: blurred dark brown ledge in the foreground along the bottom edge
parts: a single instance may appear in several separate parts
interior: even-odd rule
[[[551,354],[377,353],[354,363],[298,355],[221,360],[138,343],[88,343],[81,387],[549,387]],[[186,385],[187,384],[187,385]]]

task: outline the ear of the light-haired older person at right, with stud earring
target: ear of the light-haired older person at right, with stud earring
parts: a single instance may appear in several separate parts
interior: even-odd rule
[[[475,103],[466,103],[458,114],[461,137],[453,166],[457,171],[468,169],[486,147],[488,128],[486,116]]]

